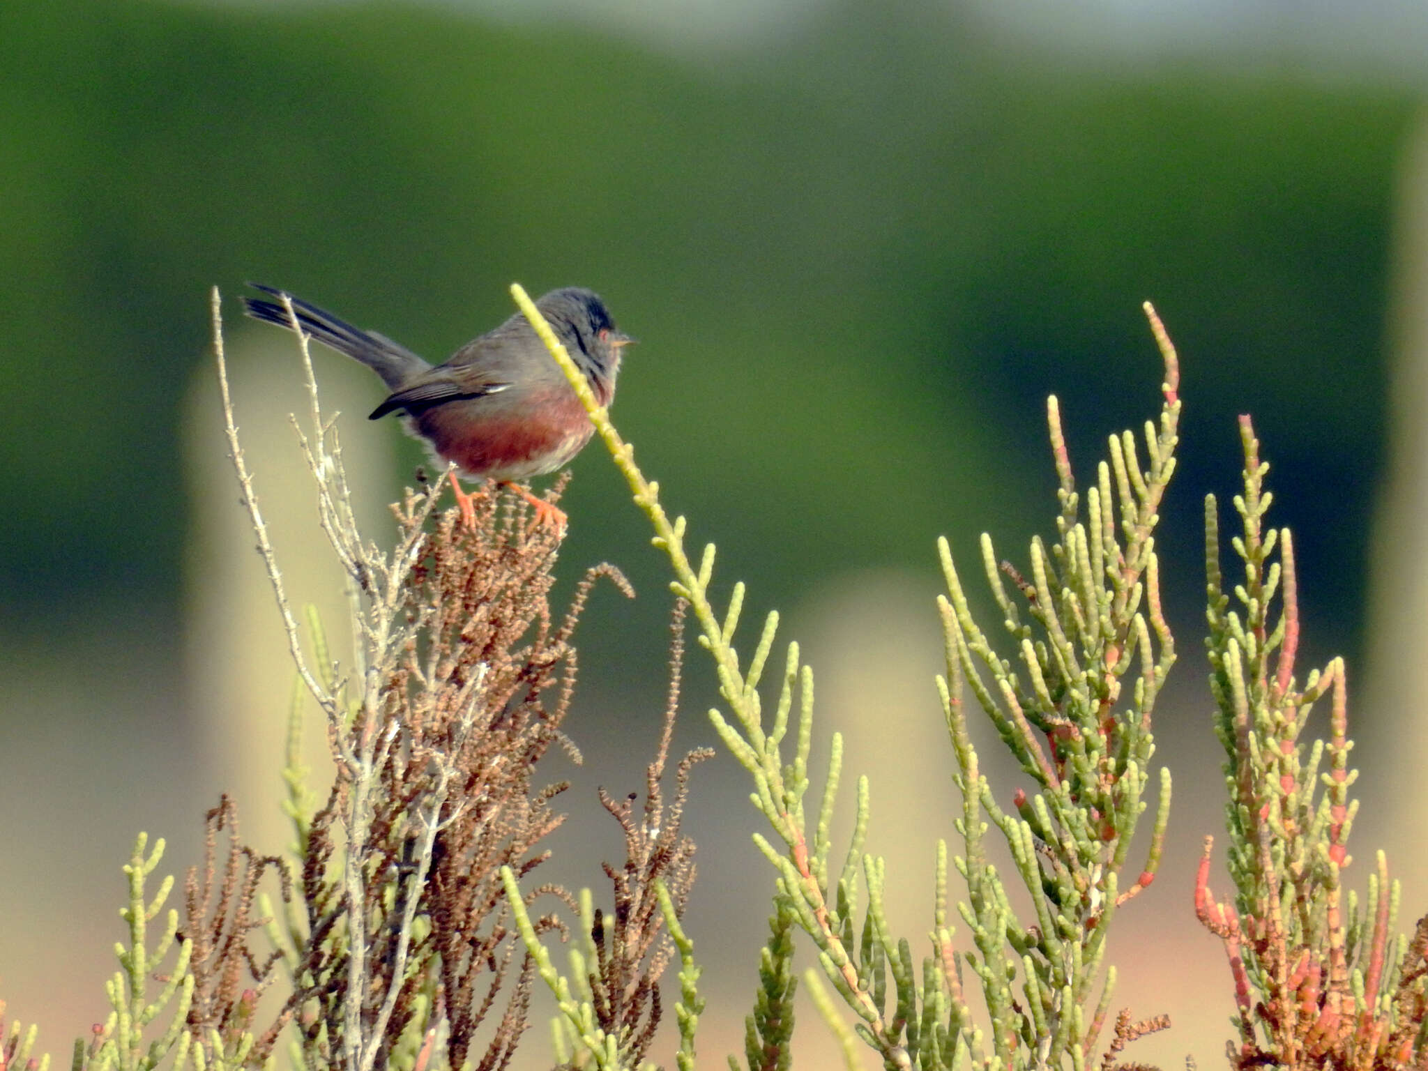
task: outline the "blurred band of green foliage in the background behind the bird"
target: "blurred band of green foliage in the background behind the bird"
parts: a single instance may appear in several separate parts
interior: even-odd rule
[[[774,603],[834,568],[930,570],[937,533],[971,545],[964,504],[1014,523],[1048,391],[1072,457],[1098,456],[1158,381],[1150,297],[1195,398],[1167,554],[1197,561],[1200,493],[1254,410],[1305,601],[1352,647],[1404,91],[1052,61],[917,0],[705,63],[437,6],[9,0],[0,70],[11,614],[177,607],[211,283],[443,357],[520,280],[593,286],[643,340],[621,427],[675,508],[747,501],[707,534]],[[577,560],[638,534],[614,487],[577,463],[598,547]],[[1345,527],[1295,524],[1328,487]]]

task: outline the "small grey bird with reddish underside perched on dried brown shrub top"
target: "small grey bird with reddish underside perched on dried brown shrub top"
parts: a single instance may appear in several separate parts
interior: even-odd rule
[[[407,433],[423,440],[434,458],[454,461],[470,480],[494,480],[510,487],[536,507],[538,521],[564,527],[564,513],[514,481],[568,464],[594,428],[555,358],[523,314],[473,338],[446,364],[433,366],[386,336],[353,327],[283,290],[251,286],[278,298],[243,298],[254,320],[291,328],[281,303],[286,296],[304,334],[356,357],[381,376],[391,393],[371,411],[370,420],[400,413]],[[585,373],[600,404],[608,406],[615,396],[620,351],[634,338],[615,328],[597,294],[581,287],[551,290],[536,307]],[[456,473],[451,487],[461,516],[474,527],[471,496],[461,490]]]

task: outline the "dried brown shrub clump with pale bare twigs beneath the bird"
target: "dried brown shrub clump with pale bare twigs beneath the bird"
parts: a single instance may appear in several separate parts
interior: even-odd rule
[[[308,340],[298,338],[310,420],[294,428],[321,527],[347,574],[354,665],[346,675],[323,644],[310,657],[300,643],[243,461],[214,296],[230,451],[337,767],[326,805],[301,820],[304,918],[294,927],[284,1014],[298,1024],[308,1065],[373,1071],[404,1047],[426,1064],[444,1034],[451,1065],[493,1071],[510,1064],[526,1028],[531,970],[523,955],[510,980],[518,952],[500,870],[524,875],[545,858],[538,843],[563,820],[551,801],[564,785],[537,783],[536,767],[551,744],[578,761],[560,730],[575,677],[571,635],[598,577],[628,585],[613,567],[591,570],[554,624],[548,594],[561,534],[533,524],[504,491],[478,496],[474,526],[463,526],[457,510],[437,510],[440,481],[428,484],[394,507],[390,553],[364,541]],[[557,481],[547,500],[561,488]],[[555,887],[527,902],[547,894],[573,904]],[[537,930],[558,925],[544,918]],[[494,1031],[476,1048],[503,987]]]

